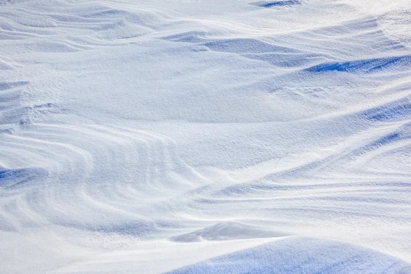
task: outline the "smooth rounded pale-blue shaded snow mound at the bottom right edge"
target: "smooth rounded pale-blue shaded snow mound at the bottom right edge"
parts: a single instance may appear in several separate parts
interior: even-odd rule
[[[299,246],[299,252],[295,247]],[[326,263],[325,263],[326,262]],[[285,238],[170,273],[408,273],[411,265],[382,253],[312,238]]]

